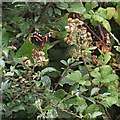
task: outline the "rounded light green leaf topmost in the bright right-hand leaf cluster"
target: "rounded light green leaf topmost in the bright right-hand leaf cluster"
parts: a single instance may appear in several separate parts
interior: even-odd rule
[[[112,73],[112,68],[109,65],[103,65],[100,67],[101,76],[104,78]]]

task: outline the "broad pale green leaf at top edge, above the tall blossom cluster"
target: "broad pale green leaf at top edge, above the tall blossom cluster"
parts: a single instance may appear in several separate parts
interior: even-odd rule
[[[75,12],[80,14],[83,14],[86,11],[85,7],[81,3],[72,3],[70,8],[67,10],[68,12]]]

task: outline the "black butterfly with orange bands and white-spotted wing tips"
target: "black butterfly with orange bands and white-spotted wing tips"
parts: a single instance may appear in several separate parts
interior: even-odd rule
[[[29,41],[36,45],[37,47],[43,47],[44,43],[48,41],[48,38],[52,36],[52,32],[47,33],[42,37],[41,32],[35,31],[29,38]]]

